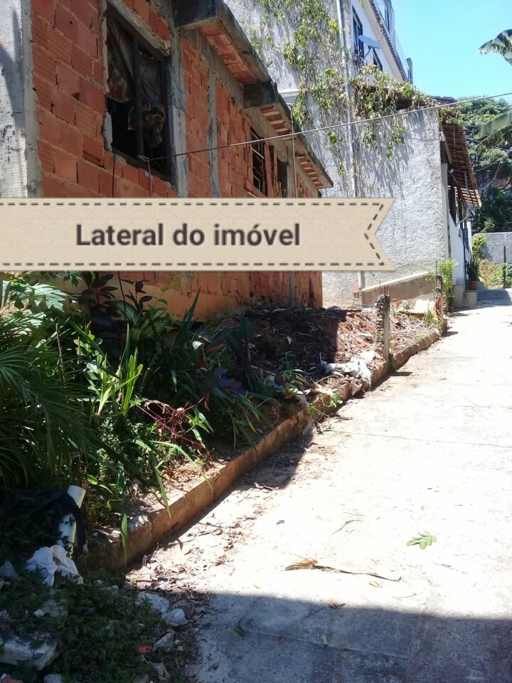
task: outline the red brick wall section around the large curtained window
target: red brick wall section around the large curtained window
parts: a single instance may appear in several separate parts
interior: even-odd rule
[[[161,38],[169,26],[146,0],[127,5]],[[46,197],[146,197],[149,174],[105,150],[101,0],[32,0],[38,156]],[[174,197],[154,176],[154,196]]]

